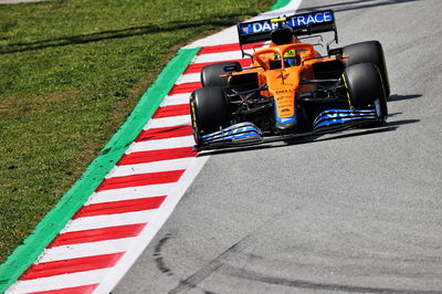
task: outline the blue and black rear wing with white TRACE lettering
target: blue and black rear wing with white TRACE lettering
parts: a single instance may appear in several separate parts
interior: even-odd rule
[[[333,10],[316,11],[302,14],[293,14],[277,19],[266,19],[238,23],[238,36],[240,46],[271,40],[270,34],[281,25],[293,29],[294,35],[311,35],[323,32],[335,32],[335,39],[327,43],[338,42],[338,33]],[[244,54],[244,52],[243,52]]]

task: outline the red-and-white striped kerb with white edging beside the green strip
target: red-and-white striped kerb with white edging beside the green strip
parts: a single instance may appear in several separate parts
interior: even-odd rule
[[[284,2],[284,1],[283,1]],[[262,17],[293,13],[301,0]],[[256,44],[254,44],[256,46]],[[245,46],[253,52],[253,44]],[[109,293],[168,219],[208,156],[197,157],[190,93],[204,65],[242,59],[236,28],[182,50],[196,52],[116,166],[6,293]]]

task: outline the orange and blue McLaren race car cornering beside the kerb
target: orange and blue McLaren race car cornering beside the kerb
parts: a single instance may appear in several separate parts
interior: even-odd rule
[[[319,33],[332,32],[326,43]],[[238,24],[243,57],[207,65],[190,97],[197,149],[320,135],[364,124],[382,125],[390,85],[378,41],[338,43],[333,10]],[[304,40],[317,40],[313,44]],[[244,51],[245,44],[269,46]],[[248,45],[251,48],[251,45]]]

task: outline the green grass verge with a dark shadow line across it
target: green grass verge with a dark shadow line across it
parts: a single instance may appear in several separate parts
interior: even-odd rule
[[[82,175],[179,46],[272,3],[0,6],[0,263]]]

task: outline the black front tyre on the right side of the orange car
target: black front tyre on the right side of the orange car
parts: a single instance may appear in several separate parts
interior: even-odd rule
[[[387,98],[379,69],[373,63],[360,63],[345,69],[343,80],[347,88],[350,107],[379,109],[379,122],[388,116]]]

